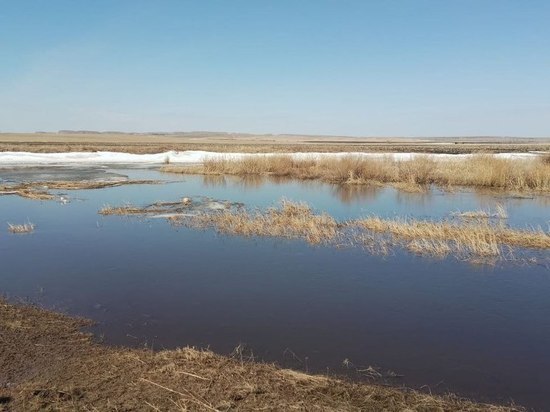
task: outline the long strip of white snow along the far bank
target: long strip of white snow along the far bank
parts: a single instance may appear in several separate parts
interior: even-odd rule
[[[205,159],[242,159],[254,156],[278,156],[281,153],[218,153],[204,151],[164,152],[156,154],[132,154],[118,152],[66,152],[66,153],[30,153],[0,152],[0,166],[27,165],[112,165],[112,164],[190,164],[201,163]],[[391,158],[393,160],[410,160],[427,156],[435,160],[462,159],[470,154],[426,154],[426,153],[291,153],[295,159],[340,158],[355,156],[359,158]],[[532,159],[540,153],[499,153],[495,157],[504,159]]]

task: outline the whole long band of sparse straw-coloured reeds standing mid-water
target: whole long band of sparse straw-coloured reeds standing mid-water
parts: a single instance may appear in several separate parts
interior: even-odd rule
[[[225,210],[174,217],[171,222],[215,228],[239,236],[299,238],[334,246],[362,245],[372,253],[382,254],[392,247],[402,247],[423,255],[475,260],[506,259],[513,248],[550,249],[550,234],[542,229],[513,229],[487,220],[432,222],[377,216],[339,223],[326,213],[315,214],[306,204],[289,201],[265,212]]]

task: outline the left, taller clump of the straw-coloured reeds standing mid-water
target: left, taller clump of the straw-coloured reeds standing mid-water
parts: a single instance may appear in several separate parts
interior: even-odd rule
[[[246,210],[202,213],[193,217],[192,225],[215,227],[220,232],[241,236],[301,238],[313,244],[328,242],[338,234],[338,223],[331,216],[315,214],[307,204],[286,200],[279,208],[265,213]]]

